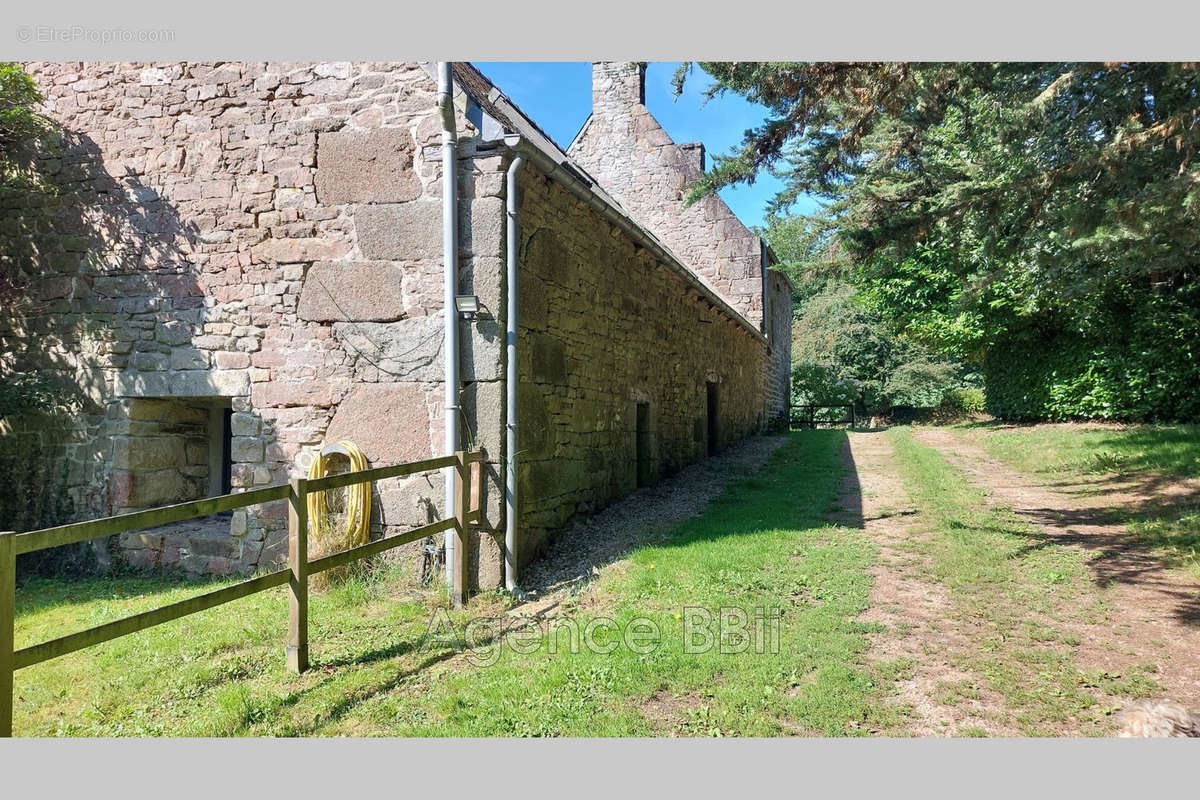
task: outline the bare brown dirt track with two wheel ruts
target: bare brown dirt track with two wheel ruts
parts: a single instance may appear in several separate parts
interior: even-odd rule
[[[1081,672],[1120,675],[1153,664],[1162,696],[1200,708],[1200,587],[1166,569],[1135,546],[1118,522],[1121,515],[1153,504],[1195,497],[1194,482],[1110,476],[1105,492],[1096,483],[1031,476],[991,458],[961,433],[944,428],[913,431],[935,447],[990,504],[1010,509],[1040,533],[1043,546],[1079,548],[1090,570],[1085,600],[1104,607],[1104,620],[1064,609],[1056,625],[1068,628]],[[863,621],[884,630],[872,634],[868,658],[877,667],[904,664],[894,702],[908,709],[908,735],[1021,735],[1019,711],[971,674],[989,634],[988,619],[955,603],[947,587],[930,576],[919,542],[930,527],[922,519],[895,465],[895,453],[882,433],[850,433],[846,458],[852,469],[844,486],[836,522],[862,527],[880,547],[874,570],[871,607]],[[914,547],[914,545],[918,545]],[[1020,618],[1021,608],[1004,609]],[[1036,618],[1028,616],[1031,622]],[[970,686],[971,692],[948,691]],[[1090,690],[1109,706],[1128,702]],[[1111,721],[1060,721],[1043,726],[1057,735],[1111,733]]]

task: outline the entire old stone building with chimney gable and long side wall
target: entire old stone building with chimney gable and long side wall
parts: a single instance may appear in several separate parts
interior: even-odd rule
[[[53,191],[0,198],[0,368],[56,386],[60,411],[0,417],[0,468],[54,493],[20,527],[277,483],[338,439],[374,465],[440,455],[433,65],[26,68],[58,128],[31,157]],[[572,515],[786,420],[791,289],[719,198],[684,207],[703,149],[658,126],[640,65],[595,65],[569,154],[469,65],[454,78],[458,291],[480,307],[460,320],[456,423],[488,452],[472,581],[496,587],[505,426],[526,563]],[[505,201],[518,155],[514,411]],[[442,515],[438,474],[377,493],[379,533]],[[283,558],[284,515],[275,504],[101,551],[247,572]]]

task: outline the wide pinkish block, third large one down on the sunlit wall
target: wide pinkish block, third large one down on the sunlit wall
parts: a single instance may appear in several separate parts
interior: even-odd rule
[[[404,271],[389,261],[313,264],[300,291],[300,319],[390,321],[404,315]]]

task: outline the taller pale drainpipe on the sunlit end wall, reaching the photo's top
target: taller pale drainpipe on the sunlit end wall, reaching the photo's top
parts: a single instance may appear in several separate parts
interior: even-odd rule
[[[442,112],[442,264],[443,309],[445,313],[445,451],[448,456],[458,451],[458,126],[454,114],[454,79],[449,61],[438,61],[438,109]],[[452,467],[443,470],[445,476],[445,517],[454,513]],[[443,518],[445,518],[443,517]],[[454,582],[452,530],[445,531],[446,585]]]

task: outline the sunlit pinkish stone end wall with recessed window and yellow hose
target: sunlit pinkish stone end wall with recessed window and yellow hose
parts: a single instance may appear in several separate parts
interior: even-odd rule
[[[302,449],[342,437],[373,464],[440,452],[440,122],[421,65],[28,68],[61,146],[38,160],[54,199],[0,209],[5,287],[22,297],[0,338],[28,350],[26,369],[82,386],[73,517],[139,505],[128,464],[151,458],[131,433],[144,399],[232,404],[235,491],[287,480]],[[503,164],[460,128],[462,283],[498,287]],[[496,321],[463,338],[462,422],[497,439],[494,404],[486,419],[473,405],[503,396]],[[440,475],[380,492],[377,528],[440,516]],[[283,515],[236,515],[220,555],[185,546],[162,563],[276,563]],[[480,558],[480,581],[496,585],[494,542]]]

